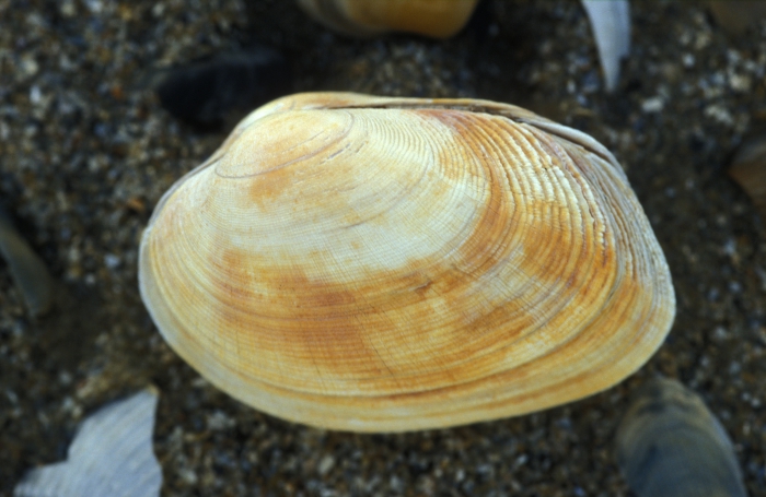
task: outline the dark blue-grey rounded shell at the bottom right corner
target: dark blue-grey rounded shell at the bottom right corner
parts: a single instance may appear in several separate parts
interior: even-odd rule
[[[617,462],[639,497],[747,496],[726,430],[675,380],[643,386],[617,430]]]

